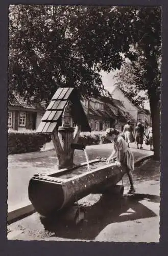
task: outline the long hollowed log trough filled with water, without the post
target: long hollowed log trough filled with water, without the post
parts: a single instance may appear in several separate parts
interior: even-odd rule
[[[34,175],[29,182],[29,199],[42,216],[60,212],[90,193],[113,188],[126,172],[124,166],[105,159],[64,168],[49,175]]]

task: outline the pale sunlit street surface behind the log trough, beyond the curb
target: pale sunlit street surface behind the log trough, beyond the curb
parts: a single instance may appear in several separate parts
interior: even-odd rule
[[[9,155],[8,157],[8,212],[30,205],[28,197],[28,185],[32,176],[36,173],[50,173],[57,170],[56,152],[53,143],[47,143],[41,152]],[[134,159],[151,156],[149,146],[144,145],[143,150],[137,150],[134,143],[131,144]],[[86,146],[89,160],[98,157],[108,157],[112,151],[112,144],[100,144]],[[74,162],[85,162],[82,151],[75,151]]]

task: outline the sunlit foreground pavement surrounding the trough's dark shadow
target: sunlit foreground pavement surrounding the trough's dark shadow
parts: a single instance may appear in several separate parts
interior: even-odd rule
[[[110,195],[82,199],[86,218],[79,226],[42,221],[37,212],[8,226],[8,239],[45,241],[159,242],[159,162],[146,160],[136,167],[136,193],[112,200]],[[124,177],[125,191],[128,179]]]

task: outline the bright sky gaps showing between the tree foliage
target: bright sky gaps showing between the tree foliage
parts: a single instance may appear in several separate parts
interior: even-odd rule
[[[105,89],[107,89],[110,93],[114,89],[114,84],[115,84],[116,80],[113,78],[113,76],[116,75],[117,72],[118,72],[118,70],[114,70],[110,73],[101,71],[103,85],[104,85]],[[145,109],[150,110],[149,101],[146,101],[144,106],[145,106]]]

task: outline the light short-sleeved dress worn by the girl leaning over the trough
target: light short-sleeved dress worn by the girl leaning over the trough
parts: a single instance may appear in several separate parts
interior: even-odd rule
[[[114,139],[114,148],[117,152],[117,161],[126,165],[129,170],[134,170],[134,156],[121,135]],[[120,151],[120,159],[118,152]]]

